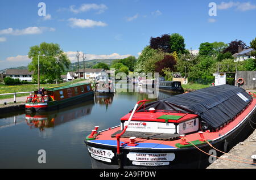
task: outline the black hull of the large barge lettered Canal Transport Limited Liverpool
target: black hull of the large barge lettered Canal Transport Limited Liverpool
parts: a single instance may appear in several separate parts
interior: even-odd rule
[[[213,139],[210,144],[213,147],[219,149],[223,152],[228,152],[234,145],[245,140],[254,130],[256,122],[256,112],[254,110],[245,118],[243,121],[232,131],[225,135],[221,135],[217,139]],[[108,131],[108,130],[107,130]],[[214,157],[211,157],[197,149],[196,147],[188,148],[137,148],[137,147],[121,147],[121,162],[117,157],[117,146],[98,143],[94,140],[85,140],[85,144],[88,147],[89,155],[92,161],[92,168],[94,169],[115,169],[115,168],[124,168],[124,169],[133,169],[133,168],[158,168],[158,169],[204,169],[209,166]],[[221,156],[222,153],[216,151],[208,144],[202,144],[198,146],[202,151],[207,152],[211,155]],[[111,162],[107,157],[102,155],[97,156],[97,151],[92,150],[96,148],[102,152],[112,153],[113,157],[110,158]],[[101,152],[101,153],[102,153]],[[164,156],[167,154],[169,159],[151,161],[144,160],[141,157],[148,157],[148,154],[153,154],[155,156]],[[111,156],[110,156],[111,157]],[[118,164],[119,161],[119,164]]]

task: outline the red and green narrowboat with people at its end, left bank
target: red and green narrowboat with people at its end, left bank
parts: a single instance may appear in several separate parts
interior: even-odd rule
[[[79,83],[44,89],[44,96],[27,97],[26,112],[55,110],[93,99],[94,91],[89,83]]]

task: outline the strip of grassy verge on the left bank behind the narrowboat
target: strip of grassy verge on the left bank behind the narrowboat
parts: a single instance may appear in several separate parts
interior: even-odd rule
[[[84,79],[76,79],[73,82],[65,82],[61,83],[58,86],[63,86],[63,85],[70,85],[72,83],[78,83],[83,81]],[[56,87],[56,84],[42,84],[40,87],[44,88],[49,88],[49,87]],[[0,94],[4,93],[14,93],[14,92],[30,92],[30,91],[36,91],[38,90],[38,85],[37,84],[25,84],[25,85],[0,85]],[[16,95],[16,97],[22,97],[22,96],[27,96],[26,94],[20,94]],[[0,96],[0,99],[5,99],[5,98],[13,98],[13,95],[4,95]]]

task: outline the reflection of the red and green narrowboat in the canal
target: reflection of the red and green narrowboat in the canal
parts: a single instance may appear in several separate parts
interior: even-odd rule
[[[93,105],[94,101],[89,101],[53,112],[26,112],[26,122],[30,128],[39,128],[40,131],[44,131],[44,128],[58,126],[62,123],[70,122],[90,114]]]

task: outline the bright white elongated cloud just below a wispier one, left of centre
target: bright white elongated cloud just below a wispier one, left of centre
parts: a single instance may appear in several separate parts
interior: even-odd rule
[[[69,18],[68,21],[70,22],[71,27],[79,27],[79,28],[92,28],[95,26],[105,27],[106,23],[103,22],[96,22],[91,19],[76,19],[76,18]]]

